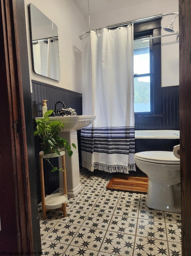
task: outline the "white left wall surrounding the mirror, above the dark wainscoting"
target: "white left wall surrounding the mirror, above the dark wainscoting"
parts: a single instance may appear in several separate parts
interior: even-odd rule
[[[44,82],[71,91],[82,92],[81,51],[82,43],[78,36],[85,31],[85,17],[73,0],[24,0],[27,28],[30,80]],[[28,4],[34,4],[58,27],[60,81],[40,76],[32,70]]]

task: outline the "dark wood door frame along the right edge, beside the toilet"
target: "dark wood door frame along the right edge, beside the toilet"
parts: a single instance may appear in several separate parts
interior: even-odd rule
[[[191,255],[191,1],[179,0],[182,256]]]

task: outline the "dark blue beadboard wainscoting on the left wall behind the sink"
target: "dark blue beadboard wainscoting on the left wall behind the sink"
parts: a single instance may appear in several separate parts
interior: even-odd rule
[[[74,91],[69,91],[62,89],[60,87],[48,85],[42,82],[32,81],[33,93],[32,97],[32,107],[33,107],[33,120],[34,128],[36,127],[35,119],[36,117],[42,116],[42,100],[48,100],[47,108],[54,109],[55,103],[57,101],[63,101],[67,108],[71,107],[76,109],[78,115],[82,115],[82,94],[76,93]],[[62,108],[61,104],[57,105],[58,109]],[[80,131],[78,134],[78,153],[79,162],[81,163],[81,149],[80,149]],[[38,153],[40,152],[40,140],[35,137],[35,159],[36,159],[36,176],[37,176],[37,193],[38,193],[38,203],[41,202],[41,190],[40,190],[40,176],[39,176],[39,162]],[[59,176],[58,172],[51,173],[51,166],[44,160],[44,186],[45,195],[49,195],[54,192],[59,187]],[[58,158],[51,159],[54,166],[58,166]]]

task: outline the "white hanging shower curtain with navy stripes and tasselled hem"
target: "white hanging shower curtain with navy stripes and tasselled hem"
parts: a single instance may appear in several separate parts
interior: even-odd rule
[[[96,115],[81,129],[82,166],[135,171],[133,25],[90,31],[82,41],[82,112]]]

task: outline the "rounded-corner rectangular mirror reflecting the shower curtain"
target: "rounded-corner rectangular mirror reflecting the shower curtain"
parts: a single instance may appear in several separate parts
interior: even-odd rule
[[[57,26],[33,4],[29,5],[29,25],[34,72],[60,81]]]

